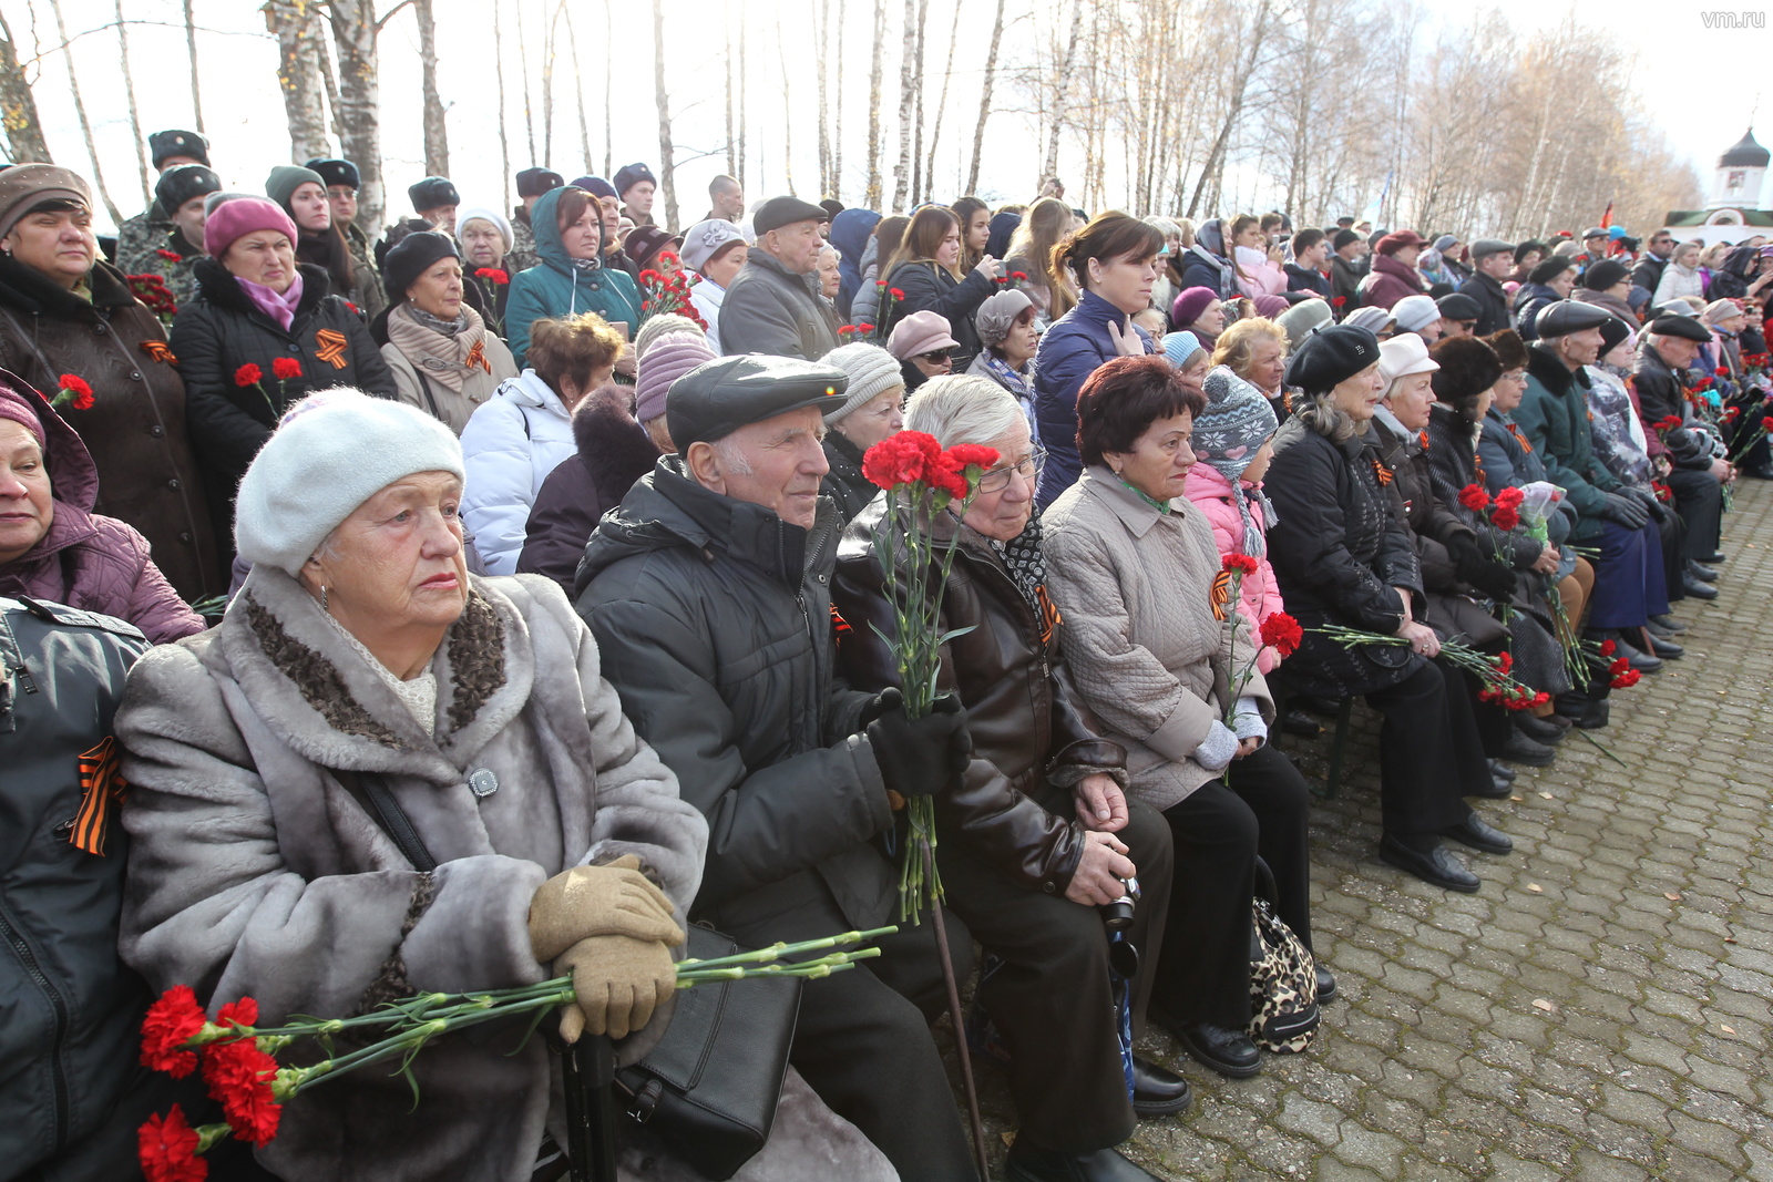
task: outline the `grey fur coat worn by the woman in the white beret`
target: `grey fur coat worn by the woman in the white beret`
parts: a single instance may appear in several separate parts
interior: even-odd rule
[[[277,1023],[539,982],[535,888],[628,852],[688,909],[707,822],[635,735],[590,631],[551,579],[470,588],[431,663],[434,739],[266,565],[218,627],[135,665],[117,712],[133,844],[119,946],[152,989],[188,984],[211,1012],[250,994]],[[415,870],[333,767],[381,773],[438,868]],[[484,799],[477,769],[498,778]],[[511,1054],[521,1035],[427,1046],[417,1108],[379,1069],[326,1083],[259,1157],[289,1182],[528,1178],[560,1093],[541,1038]]]

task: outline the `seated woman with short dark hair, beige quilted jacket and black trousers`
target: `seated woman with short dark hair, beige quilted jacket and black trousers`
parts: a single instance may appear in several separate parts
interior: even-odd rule
[[[1266,744],[1275,707],[1252,665],[1262,642],[1215,594],[1213,526],[1184,494],[1204,408],[1161,356],[1105,363],[1078,393],[1083,475],[1043,523],[1073,682],[1126,748],[1128,790],[1163,812],[1175,842],[1152,1012],[1190,1054],[1241,1079],[1261,1070],[1245,1033],[1255,863],[1310,946],[1310,790]],[[1319,998],[1333,991],[1319,971]]]

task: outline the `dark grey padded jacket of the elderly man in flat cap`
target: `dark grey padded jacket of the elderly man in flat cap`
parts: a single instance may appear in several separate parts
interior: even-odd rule
[[[603,675],[707,817],[691,920],[755,923],[826,890],[856,927],[895,913],[869,695],[833,670],[840,528],[828,502],[801,530],[665,455],[585,546],[574,599]]]

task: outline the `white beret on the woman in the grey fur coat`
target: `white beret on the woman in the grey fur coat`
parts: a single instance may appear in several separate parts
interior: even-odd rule
[[[241,477],[234,548],[294,578],[358,505],[415,471],[465,477],[449,427],[349,386],[310,393],[284,413]]]

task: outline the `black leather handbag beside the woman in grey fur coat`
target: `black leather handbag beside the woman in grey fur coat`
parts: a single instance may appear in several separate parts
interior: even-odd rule
[[[351,771],[333,771],[333,776],[394,838],[415,868],[436,868],[418,829],[381,776]],[[690,957],[697,960],[746,952],[730,936],[709,927],[691,923],[688,934]],[[615,1070],[613,1090],[628,1120],[711,1182],[723,1182],[738,1173],[769,1139],[800,1017],[801,984],[798,976],[775,976],[679,989],[658,1046],[640,1061]],[[571,1054],[573,1049],[566,1053]],[[590,1083],[580,1093],[580,1102],[573,1097],[576,1088],[569,1088],[567,1120],[574,1125],[571,1141],[585,1147],[599,1143],[582,1150],[578,1157],[603,1157],[608,1163],[613,1157],[613,1147],[603,1136],[610,1124],[608,1113],[599,1120],[590,1111],[617,1099],[608,1095],[608,1088],[601,1097],[590,1095],[608,1077],[608,1070],[605,1067],[571,1076]],[[585,1127],[590,1124],[603,1129],[590,1131]],[[574,1166],[582,1164],[574,1161]],[[596,1166],[590,1168],[596,1171]]]

